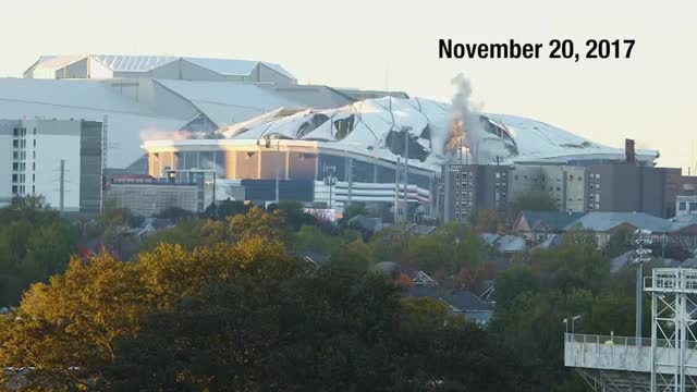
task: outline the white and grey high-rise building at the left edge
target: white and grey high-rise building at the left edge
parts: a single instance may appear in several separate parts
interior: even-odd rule
[[[53,208],[101,208],[102,124],[0,120],[0,204],[41,195]]]

